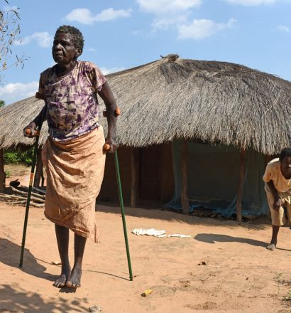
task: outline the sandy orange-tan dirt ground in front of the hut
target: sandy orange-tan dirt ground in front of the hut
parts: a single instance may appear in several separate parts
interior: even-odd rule
[[[133,267],[128,280],[118,207],[97,205],[101,243],[88,241],[82,287],[53,287],[60,273],[54,226],[31,208],[23,268],[18,268],[25,209],[0,202],[0,312],[102,313],[291,312],[291,230],[280,230],[278,249],[265,249],[268,223],[197,218],[126,208]],[[155,228],[191,238],[131,234]],[[70,259],[73,259],[72,233]],[[151,289],[148,297],[141,297]]]

